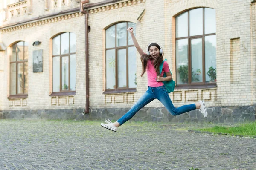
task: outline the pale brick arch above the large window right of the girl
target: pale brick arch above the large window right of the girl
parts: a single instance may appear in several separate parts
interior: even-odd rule
[[[181,14],[188,9],[207,7],[207,8],[217,8],[218,0],[183,0],[174,3],[169,3],[169,9],[172,12],[172,17],[177,14]]]

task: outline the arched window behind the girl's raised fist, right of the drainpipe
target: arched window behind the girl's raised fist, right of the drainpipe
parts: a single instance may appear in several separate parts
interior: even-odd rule
[[[135,34],[135,23],[130,22],[106,29],[106,90],[136,88],[136,48],[128,27]]]

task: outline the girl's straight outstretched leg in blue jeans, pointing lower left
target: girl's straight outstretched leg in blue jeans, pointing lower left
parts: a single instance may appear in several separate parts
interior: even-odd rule
[[[126,121],[130,120],[141,108],[143,108],[145,105],[153,101],[154,95],[150,90],[147,90],[143,96],[140,97],[140,99],[131,107],[131,109],[125,113],[125,115],[122,116],[117,122],[122,125]]]

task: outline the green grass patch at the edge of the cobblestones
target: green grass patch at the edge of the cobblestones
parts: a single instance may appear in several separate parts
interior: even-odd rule
[[[227,133],[227,135],[243,135],[243,136],[256,136],[256,122],[238,124],[235,127],[229,126],[215,126],[206,127],[202,129],[195,129],[197,131],[207,131],[213,133]]]

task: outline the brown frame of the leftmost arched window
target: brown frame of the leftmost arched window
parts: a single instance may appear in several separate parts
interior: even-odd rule
[[[23,42],[23,60],[17,61],[17,44],[20,43],[20,42]],[[18,63],[23,63],[23,74],[22,75],[23,75],[23,78],[24,78],[25,62],[27,62],[27,64],[28,64],[28,58],[29,58],[29,56],[27,56],[27,59],[24,60],[24,58],[25,58],[25,41],[18,41],[16,43],[12,44],[12,46],[10,46],[10,48],[13,48],[13,46],[15,46],[15,56],[16,56],[16,58],[15,58],[15,61],[11,61],[11,55],[9,55],[9,59],[10,59],[10,61],[9,61],[9,67],[10,67],[9,68],[9,77],[10,77],[9,83],[10,83],[10,86],[9,86],[9,97],[8,97],[8,99],[27,98],[28,93],[24,93],[24,91],[25,91],[25,85],[24,85],[25,82],[24,81],[22,81],[22,84],[23,84],[22,91],[23,91],[23,93],[17,93],[18,92]],[[16,63],[15,64],[16,65],[15,66],[16,67],[15,68],[16,69],[16,72],[15,72],[15,84],[16,84],[15,94],[11,94],[11,87],[12,87],[11,86],[11,64],[12,63]]]

